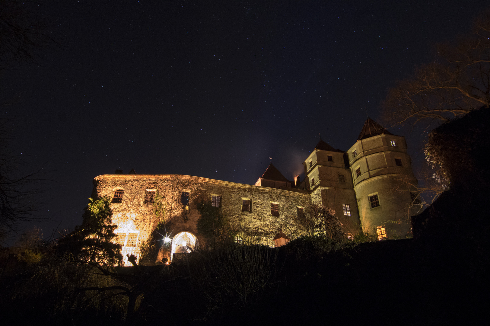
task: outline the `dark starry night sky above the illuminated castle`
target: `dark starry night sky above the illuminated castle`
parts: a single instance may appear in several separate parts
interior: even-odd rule
[[[321,138],[352,146],[396,79],[469,29],[484,1],[49,1],[61,46],[1,75],[14,147],[54,180],[45,236],[81,223],[116,169],[289,179]],[[379,3],[378,3],[379,2]],[[197,4],[196,4],[197,3]],[[420,132],[409,152],[421,160]]]

